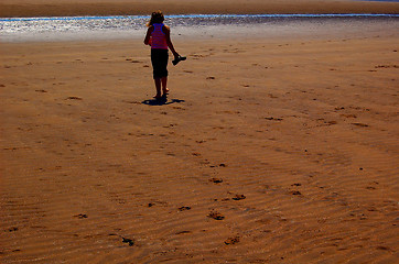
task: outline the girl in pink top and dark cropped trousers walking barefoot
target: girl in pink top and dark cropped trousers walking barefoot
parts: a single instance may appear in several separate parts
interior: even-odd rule
[[[169,89],[168,84],[168,48],[171,50],[175,58],[180,55],[173,47],[171,41],[171,30],[168,25],[163,24],[164,16],[161,11],[153,12],[151,20],[147,23],[149,28],[144,38],[144,44],[151,46],[151,63],[153,68],[153,78],[155,81],[157,95],[155,99],[161,98],[161,85],[162,96],[166,96]]]

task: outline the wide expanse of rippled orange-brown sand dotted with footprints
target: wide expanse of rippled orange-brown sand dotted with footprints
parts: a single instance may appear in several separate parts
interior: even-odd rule
[[[398,40],[0,43],[1,263],[397,263]]]

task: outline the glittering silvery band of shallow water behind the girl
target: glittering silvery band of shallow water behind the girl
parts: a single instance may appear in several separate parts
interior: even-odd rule
[[[0,19],[1,42],[138,38],[149,16]],[[174,37],[292,36],[397,31],[398,14],[187,14],[169,15]]]

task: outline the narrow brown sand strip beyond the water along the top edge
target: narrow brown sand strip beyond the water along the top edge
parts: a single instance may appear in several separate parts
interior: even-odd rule
[[[0,18],[165,13],[399,13],[399,3],[357,0],[1,0]]]

